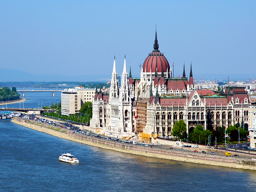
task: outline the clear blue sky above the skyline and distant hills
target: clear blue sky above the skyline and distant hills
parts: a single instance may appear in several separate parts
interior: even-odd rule
[[[138,77],[157,24],[159,50],[175,75],[185,60],[186,74],[192,61],[197,79],[252,78],[255,10],[256,1],[244,0],[0,1],[0,69],[55,74],[55,81],[62,74],[110,78],[114,55],[121,74],[126,54]]]

